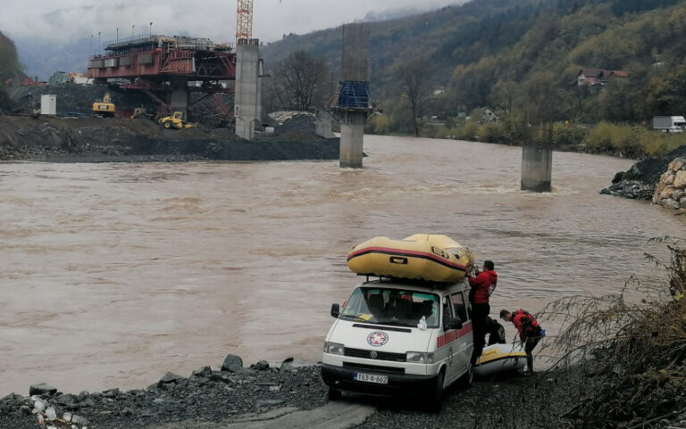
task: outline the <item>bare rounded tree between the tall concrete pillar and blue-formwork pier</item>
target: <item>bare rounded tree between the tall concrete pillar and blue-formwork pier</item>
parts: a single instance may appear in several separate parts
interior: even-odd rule
[[[326,62],[305,50],[289,54],[272,72],[273,96],[281,109],[307,111],[322,103],[315,95],[329,76]]]

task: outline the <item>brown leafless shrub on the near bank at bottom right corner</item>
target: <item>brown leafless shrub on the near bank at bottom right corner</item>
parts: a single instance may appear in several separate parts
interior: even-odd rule
[[[572,427],[652,427],[686,409],[686,249],[679,239],[657,240],[671,258],[653,259],[665,278],[637,284],[646,298],[565,298],[540,315],[563,323],[552,343],[563,356],[557,366],[584,377],[563,415]]]

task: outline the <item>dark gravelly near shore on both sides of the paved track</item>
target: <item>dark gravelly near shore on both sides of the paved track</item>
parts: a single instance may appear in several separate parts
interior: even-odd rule
[[[370,416],[358,425],[331,423],[326,427],[504,427],[498,422],[509,422],[508,427],[556,427],[543,424],[551,413],[561,414],[566,409],[576,385],[563,382],[560,376],[509,375],[475,381],[468,390],[451,388],[437,414],[410,400],[345,395],[342,402],[349,409],[371,407]],[[242,427],[248,421],[257,422],[255,427],[272,427],[268,422],[278,427],[278,417],[298,410],[314,412],[327,402],[319,365],[294,367],[287,359],[280,367],[270,367],[264,361],[243,367],[242,359],[229,355],[218,370],[200,367],[188,377],[167,373],[155,384],[128,392],[64,393],[50,385],[35,384],[29,392],[0,399],[0,427],[219,429]],[[331,418],[339,423],[342,420]],[[293,427],[310,426],[303,423]]]

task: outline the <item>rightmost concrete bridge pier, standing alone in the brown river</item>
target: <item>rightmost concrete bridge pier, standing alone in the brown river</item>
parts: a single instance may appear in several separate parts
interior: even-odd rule
[[[523,191],[550,192],[553,172],[553,128],[527,128],[522,144]]]

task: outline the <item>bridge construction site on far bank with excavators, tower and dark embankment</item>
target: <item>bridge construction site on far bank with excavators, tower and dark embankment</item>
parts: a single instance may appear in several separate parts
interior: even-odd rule
[[[85,73],[8,87],[17,108],[0,114],[0,160],[339,158],[330,115],[263,111],[252,27],[253,0],[238,0],[235,43],[117,31]]]

